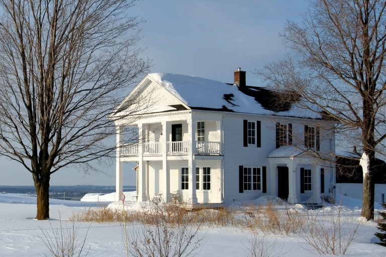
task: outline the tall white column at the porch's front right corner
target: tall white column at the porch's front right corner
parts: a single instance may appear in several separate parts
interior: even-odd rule
[[[191,198],[191,203],[197,203],[196,195],[196,119],[187,120],[187,135],[188,135],[188,185],[189,185],[189,197]]]

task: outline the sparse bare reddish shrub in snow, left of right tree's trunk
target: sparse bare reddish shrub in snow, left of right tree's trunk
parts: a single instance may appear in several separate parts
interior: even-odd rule
[[[344,215],[342,206],[330,210],[310,212],[301,237],[319,254],[345,254],[356,238],[360,220]]]

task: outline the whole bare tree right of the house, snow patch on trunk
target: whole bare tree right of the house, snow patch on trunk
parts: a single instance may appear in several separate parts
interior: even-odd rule
[[[367,219],[374,217],[375,153],[382,154],[386,138],[385,8],[379,0],[311,0],[303,22],[288,21],[281,35],[292,54],[256,71],[360,141]]]

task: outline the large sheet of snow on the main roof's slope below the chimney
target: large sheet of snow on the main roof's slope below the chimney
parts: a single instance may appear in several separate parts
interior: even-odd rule
[[[321,117],[318,113],[296,106],[290,106],[291,108],[279,112],[275,112],[266,106],[263,107],[262,105],[267,105],[267,101],[273,101],[272,99],[266,99],[269,90],[265,88],[248,87],[248,90],[256,94],[256,96],[250,96],[240,91],[236,85],[206,78],[171,73],[152,73],[148,76],[192,109],[207,108],[253,114],[276,114],[307,118]],[[259,94],[264,95],[258,101]]]

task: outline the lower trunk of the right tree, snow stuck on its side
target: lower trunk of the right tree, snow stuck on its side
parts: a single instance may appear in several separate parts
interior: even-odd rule
[[[371,156],[371,155],[370,155]],[[374,158],[363,153],[360,165],[363,170],[363,200],[361,216],[367,220],[374,219]]]

